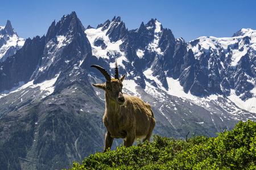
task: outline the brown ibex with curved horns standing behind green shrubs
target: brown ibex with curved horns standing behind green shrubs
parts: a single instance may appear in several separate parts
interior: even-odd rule
[[[115,78],[97,65],[92,65],[105,76],[104,84],[92,84],[94,87],[105,90],[106,109],[103,123],[106,127],[104,152],[112,146],[114,138],[122,138],[123,145],[132,146],[137,139],[150,140],[155,127],[154,113],[150,104],[144,103],[135,96],[122,93],[125,74],[119,78],[117,61],[115,61]]]

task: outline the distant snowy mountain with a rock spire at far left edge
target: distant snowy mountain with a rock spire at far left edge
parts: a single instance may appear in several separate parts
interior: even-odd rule
[[[4,27],[0,27],[0,62],[6,60],[7,57],[13,56],[16,50],[22,48],[25,40],[18,37],[17,33],[11,26],[10,20]]]

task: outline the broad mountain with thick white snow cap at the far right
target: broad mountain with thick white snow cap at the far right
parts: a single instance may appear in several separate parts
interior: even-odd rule
[[[241,109],[256,113],[256,31],[241,29],[233,37],[200,37],[189,42],[213,92],[225,95]]]

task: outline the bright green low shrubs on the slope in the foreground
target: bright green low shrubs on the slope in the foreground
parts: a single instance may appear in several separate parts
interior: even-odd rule
[[[153,139],[90,155],[72,169],[256,169],[256,123],[250,120],[216,138]]]

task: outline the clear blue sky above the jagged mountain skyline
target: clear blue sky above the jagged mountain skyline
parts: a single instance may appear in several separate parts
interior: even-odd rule
[[[175,38],[183,37],[187,42],[200,36],[231,37],[241,28],[256,29],[254,0],[0,0],[0,4],[0,25],[9,19],[24,39],[43,36],[53,20],[58,22],[72,11],[85,28],[121,16],[130,30],[156,18],[164,28],[172,30]]]

